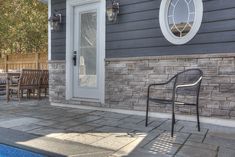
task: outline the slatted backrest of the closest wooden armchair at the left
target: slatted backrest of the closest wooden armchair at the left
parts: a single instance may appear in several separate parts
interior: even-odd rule
[[[38,86],[42,70],[23,69],[20,75],[20,86]]]

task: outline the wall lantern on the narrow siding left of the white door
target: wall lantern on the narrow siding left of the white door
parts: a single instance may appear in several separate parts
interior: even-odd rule
[[[51,25],[51,30],[59,31],[60,25],[62,24],[62,15],[60,13],[54,13],[48,21]]]

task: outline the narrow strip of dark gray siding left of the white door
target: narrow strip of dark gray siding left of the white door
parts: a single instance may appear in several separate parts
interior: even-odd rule
[[[51,57],[52,60],[65,60],[65,38],[66,38],[66,0],[52,0],[51,11],[62,14],[63,25],[61,31],[51,32]]]

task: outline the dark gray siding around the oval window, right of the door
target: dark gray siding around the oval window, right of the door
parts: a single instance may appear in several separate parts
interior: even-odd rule
[[[235,52],[235,0],[204,0],[203,23],[189,43],[175,46],[162,35],[161,0],[119,0],[118,23],[107,23],[106,57]]]

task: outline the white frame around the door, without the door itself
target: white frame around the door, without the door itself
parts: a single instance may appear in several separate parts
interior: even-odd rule
[[[101,18],[100,18],[100,103],[104,103],[105,94],[105,0],[67,0],[66,1],[66,100],[73,99],[73,37],[74,37],[74,8],[91,3],[100,3]],[[89,101],[89,100],[87,100]]]

